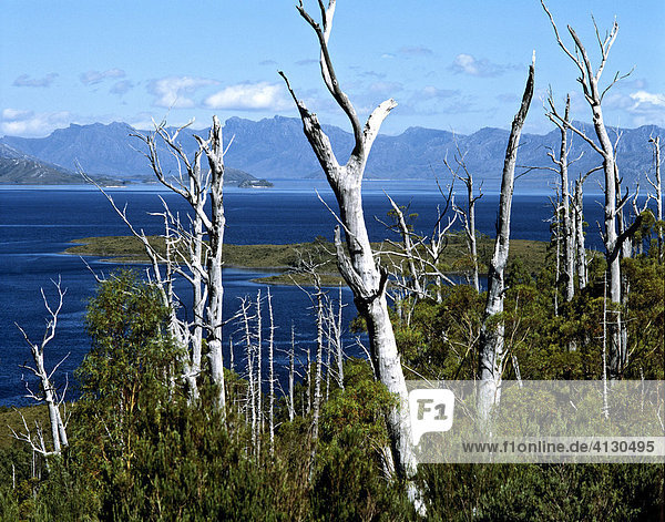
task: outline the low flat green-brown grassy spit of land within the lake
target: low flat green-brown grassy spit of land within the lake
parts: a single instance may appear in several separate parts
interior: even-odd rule
[[[151,245],[157,252],[165,252],[164,238],[151,236]],[[65,250],[66,254],[80,256],[99,256],[116,263],[145,263],[147,257],[143,244],[132,236],[85,237],[76,239],[75,245]],[[385,243],[376,243],[374,247],[381,252],[381,262],[386,266],[399,265],[401,258],[390,254],[395,247]],[[488,237],[478,242],[478,256],[481,272],[485,270],[494,240]],[[545,262],[548,244],[543,242],[513,239],[510,242],[511,259],[520,259],[525,270],[532,274],[540,272]],[[341,278],[337,272],[334,245],[325,240],[287,245],[224,245],[224,263],[228,267],[242,267],[259,270],[277,272],[277,275],[258,279],[266,284],[290,285],[294,282],[307,285],[310,278],[303,274],[294,274],[301,258],[311,259],[318,265],[323,283],[337,285]],[[468,266],[467,247],[461,236],[452,235],[441,258],[441,267],[447,273],[462,273]]]

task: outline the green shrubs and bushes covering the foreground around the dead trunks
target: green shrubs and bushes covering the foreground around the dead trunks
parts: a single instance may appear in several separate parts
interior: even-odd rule
[[[541,264],[536,274],[511,262],[498,320],[522,378],[600,377],[604,268],[596,257],[589,286],[554,310],[552,263]],[[663,379],[664,266],[649,252],[624,260],[623,270],[630,287],[623,309],[631,342],[626,376]],[[460,285],[442,288],[439,303],[402,303],[392,318],[408,378],[473,378],[485,298]],[[367,361],[345,362],[344,389],[332,383],[321,405],[317,441],[311,418],[289,422],[282,403],[274,453],[266,434],[258,436],[257,451],[243,406],[247,382],[238,375],[226,372],[225,418],[205,379],[201,400],[187,402],[178,379],[182,354],[167,335],[168,314],[158,291],[132,273],[100,286],[89,306],[92,347],[76,373],[81,398],[72,408],[70,447],[48,470],[43,463],[35,468],[41,477],[32,477],[24,446],[0,447],[0,475],[10,477],[13,463],[17,478],[16,487],[0,484],[0,520],[415,518],[403,484],[383,475],[385,414],[396,399]],[[356,326],[365,325],[357,319]],[[514,378],[515,367],[509,364],[505,371]],[[297,412],[304,411],[305,395],[300,383]],[[548,412],[542,397],[533,400]],[[2,412],[2,419],[11,414]],[[419,470],[431,520],[649,520],[664,502],[661,465],[428,464]]]

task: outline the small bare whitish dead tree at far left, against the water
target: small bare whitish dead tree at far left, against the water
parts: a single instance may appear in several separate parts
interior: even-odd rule
[[[17,433],[12,429],[12,433],[16,439],[28,442],[30,444],[30,447],[32,448],[33,452],[37,452],[43,457],[48,457],[50,454],[60,454],[62,449],[66,448],[69,446],[69,440],[66,437],[66,420],[63,420],[63,414],[60,412],[60,408],[62,407],[63,401],[64,401],[64,395],[66,392],[66,388],[62,393],[58,393],[58,390],[57,390],[55,386],[53,385],[53,373],[58,370],[60,365],[62,365],[64,359],[66,359],[69,354],[60,362],[58,362],[58,365],[55,365],[50,372],[47,370],[47,368],[44,366],[44,349],[45,349],[47,345],[49,342],[51,342],[53,340],[53,338],[55,337],[55,329],[58,327],[58,316],[60,315],[60,311],[62,310],[63,298],[64,298],[64,294],[66,291],[66,290],[62,289],[60,279],[58,279],[58,283],[53,282],[53,284],[55,285],[55,289],[58,290],[58,303],[57,303],[55,307],[52,307],[51,305],[49,305],[49,300],[47,299],[47,296],[44,295],[43,288],[41,290],[44,306],[47,307],[47,310],[49,311],[49,316],[50,316],[47,321],[47,328],[45,328],[44,336],[43,336],[41,342],[39,345],[35,342],[32,342],[30,340],[30,338],[28,337],[28,334],[25,332],[25,330],[23,330],[23,328],[21,328],[17,324],[17,327],[23,335],[25,342],[30,347],[30,351],[32,354],[32,360],[34,362],[34,366],[23,365],[23,366],[21,366],[21,368],[24,368],[24,369],[31,371],[39,379],[39,386],[40,386],[39,391],[32,391],[30,389],[28,381],[25,381],[25,390],[27,390],[25,397],[33,399],[40,403],[45,402],[47,408],[49,410],[49,423],[51,426],[51,438],[53,440],[53,450],[49,451],[47,449],[42,429],[38,422],[35,422],[35,429],[37,429],[37,440],[35,440],[34,436],[32,436],[32,433],[30,432],[30,429],[28,428],[28,423],[25,422],[25,419],[23,418],[22,413],[21,413],[21,418],[23,420],[23,428],[25,431],[23,431],[21,433]]]

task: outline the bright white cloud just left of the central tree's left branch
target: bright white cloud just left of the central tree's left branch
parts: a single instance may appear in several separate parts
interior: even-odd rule
[[[204,105],[209,109],[238,111],[259,111],[269,109],[280,111],[291,106],[284,94],[282,84],[259,82],[229,85],[208,96]]]

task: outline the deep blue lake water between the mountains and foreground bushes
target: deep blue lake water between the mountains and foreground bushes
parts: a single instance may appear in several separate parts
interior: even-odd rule
[[[424,234],[431,232],[437,219],[437,205],[443,204],[436,185],[431,182],[371,182],[366,184],[364,204],[366,219],[372,240],[383,239],[389,233],[374,216],[385,219],[390,209],[383,190],[400,205],[410,205],[409,212],[418,213],[416,228]],[[548,187],[543,187],[545,193]],[[318,199],[320,196],[337,211],[330,190],[325,182],[277,181],[269,190],[225,190],[227,229],[225,242],[229,244],[287,244],[309,242],[317,235],[332,238],[336,222]],[[160,212],[163,197],[172,212],[186,212],[180,196],[157,187],[136,186],[109,191],[137,229],[146,234],[161,234],[163,224],[150,212]],[[601,248],[596,221],[602,219],[602,207],[589,196],[585,199],[586,221],[592,225],[587,232],[591,246]],[[499,196],[487,194],[479,201],[477,223],[479,232],[494,236]],[[459,203],[466,201],[459,199]],[[515,195],[511,237],[518,239],[548,240],[546,219],[552,206],[546,195]],[[63,255],[72,239],[90,236],[129,235],[124,223],[111,208],[106,198],[95,188],[81,187],[0,187],[0,405],[23,402],[19,365],[30,362],[30,351],[14,323],[20,324],[33,341],[40,341],[45,325],[40,288],[55,298],[51,279],[62,279],[66,295],[54,340],[47,348],[47,364],[52,367],[66,354],[62,372],[70,376],[90,348],[84,328],[85,304],[92,296],[95,279],[85,264],[75,256]],[[86,259],[92,270],[109,274],[117,265],[98,258]],[[224,269],[224,310],[228,317],[238,307],[238,298],[256,296],[266,287],[252,282],[264,274],[252,270]],[[290,344],[290,325],[295,325],[299,349],[314,345],[315,328],[310,318],[308,297],[298,288],[274,286],[273,306],[277,347],[286,349]],[[337,290],[332,290],[336,298]],[[351,295],[344,291],[345,324],[355,316]],[[225,329],[225,337],[236,328]],[[348,337],[348,336],[347,336]],[[237,336],[236,336],[237,338]],[[349,342],[351,345],[351,342]],[[228,344],[225,344],[225,364],[228,364]],[[349,346],[347,355],[359,355],[358,348]],[[264,358],[265,359],[265,358]],[[239,351],[236,365],[242,365]],[[287,358],[278,354],[276,365],[284,377]],[[70,396],[71,397],[71,396]]]

